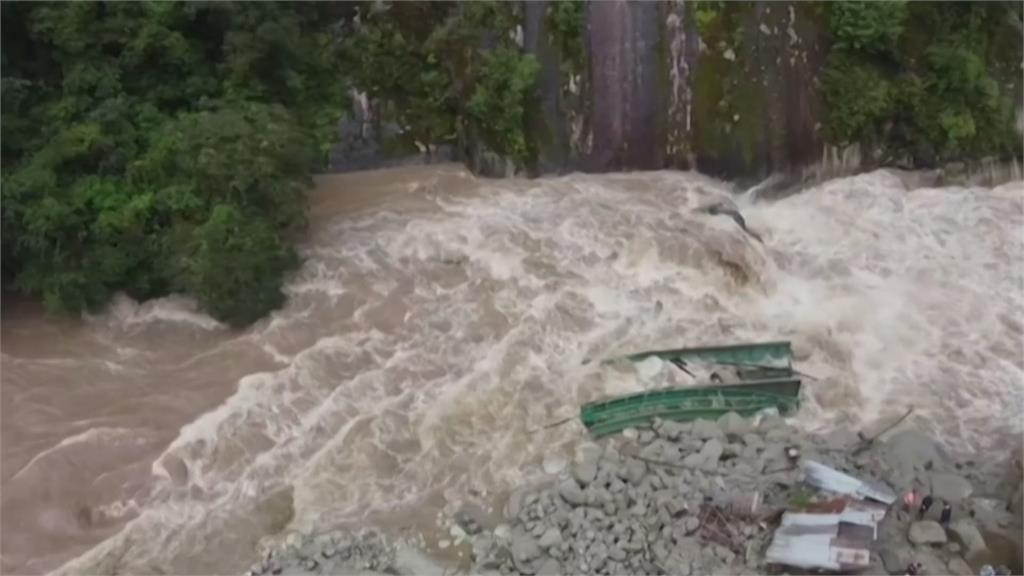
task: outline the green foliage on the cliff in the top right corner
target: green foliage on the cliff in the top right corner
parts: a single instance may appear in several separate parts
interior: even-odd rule
[[[1019,3],[837,2],[822,74],[825,127],[836,143],[861,143],[880,163],[1020,155],[1013,130],[1020,70]],[[1014,45],[1016,43],[1016,46]],[[1008,57],[1016,52],[1017,57]]]

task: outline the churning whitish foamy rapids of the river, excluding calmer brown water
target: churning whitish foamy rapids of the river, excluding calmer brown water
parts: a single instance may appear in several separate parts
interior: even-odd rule
[[[834,180],[743,204],[764,245],[695,211],[730,198],[695,174],[479,187],[318,230],[290,303],[252,334],[282,367],[180,430],[158,462],[180,458],[189,486],[160,491],[62,570],[114,553],[122,569],[242,569],[229,559],[248,550],[226,553],[216,531],[238,546],[265,536],[245,519],[274,491],[290,494],[289,527],[308,528],[509,488],[581,436],[538,429],[649,385],[584,359],[653,347],[793,339],[818,378],[801,415],[811,426],[912,405],[953,447],[1021,433],[1020,183]]]

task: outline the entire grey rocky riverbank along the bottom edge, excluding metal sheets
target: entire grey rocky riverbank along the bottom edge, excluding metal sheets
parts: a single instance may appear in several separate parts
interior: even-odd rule
[[[658,421],[582,442],[571,462],[545,462],[548,482],[512,493],[499,520],[474,506],[453,513],[441,523],[452,539],[439,547],[469,551],[474,574],[775,573],[766,549],[782,512],[834,501],[809,486],[808,461],[934,499],[921,519],[892,504],[861,571],[903,574],[911,563],[925,574],[978,574],[985,565],[1020,571],[1020,547],[1012,544],[1020,541],[1019,496],[1009,506],[995,497],[1006,479],[980,475],[975,462],[956,461],[913,430],[864,449],[852,433],[810,435],[774,415]],[[1019,460],[1014,466],[1019,471]],[[945,504],[951,519],[944,526]],[[396,544],[376,533],[293,535],[251,573],[467,571],[445,570],[417,546],[422,538]]]

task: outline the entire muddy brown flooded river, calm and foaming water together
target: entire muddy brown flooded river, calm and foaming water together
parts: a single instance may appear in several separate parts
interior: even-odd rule
[[[722,200],[764,244],[694,211]],[[545,424],[642,385],[584,359],[650,347],[792,339],[810,429],[914,406],[955,450],[1022,433],[1020,182],[880,171],[755,202],[445,165],[321,177],[310,219],[288,304],[246,331],[180,297],[5,299],[3,573],[240,573],[290,530],[429,532],[582,436]]]

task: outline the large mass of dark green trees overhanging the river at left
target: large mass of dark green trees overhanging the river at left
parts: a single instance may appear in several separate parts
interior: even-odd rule
[[[53,310],[283,300],[341,106],[332,4],[4,3],[4,283]]]

